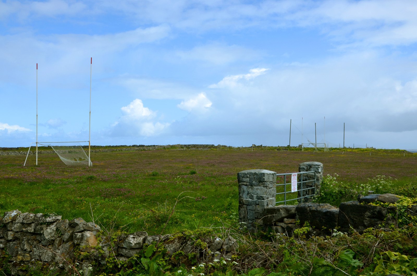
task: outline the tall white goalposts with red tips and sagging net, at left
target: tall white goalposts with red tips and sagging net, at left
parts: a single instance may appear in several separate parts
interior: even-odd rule
[[[91,147],[91,73],[93,68],[93,58],[90,59],[90,113],[88,118],[88,141],[64,141],[64,142],[39,142],[38,141],[38,63],[36,63],[36,142],[30,143],[28,154],[26,155],[25,163],[28,160],[30,153],[30,148],[33,144],[36,144],[36,166],[38,166],[38,146],[50,146],[53,151],[59,156],[61,161],[63,161],[68,166],[76,165],[87,165],[93,166],[93,163],[90,160],[90,147]],[[88,142],[88,156],[85,153],[83,147],[80,143]],[[70,143],[77,144],[67,146]]]

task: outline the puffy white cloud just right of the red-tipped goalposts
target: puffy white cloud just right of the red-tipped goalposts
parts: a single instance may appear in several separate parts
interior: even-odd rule
[[[170,124],[155,122],[156,112],[135,99],[121,108],[124,114],[112,125],[113,136],[154,136],[161,134]]]

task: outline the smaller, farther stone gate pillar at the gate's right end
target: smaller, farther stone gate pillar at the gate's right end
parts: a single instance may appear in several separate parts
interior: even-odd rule
[[[310,190],[303,191],[303,195],[309,195],[312,196],[314,194],[319,195],[320,194],[320,186],[322,184],[323,179],[323,164],[320,162],[304,162],[298,165],[298,171],[304,172],[304,171],[314,171],[316,172],[316,182],[308,182],[303,183],[303,189],[306,188],[312,188]],[[301,175],[299,175],[301,178]],[[300,181],[301,179],[299,179]],[[303,173],[303,181],[309,181],[314,180],[314,173]],[[298,197],[301,196],[301,186],[298,184],[297,187],[298,190]],[[311,202],[312,198],[303,198],[303,202]]]

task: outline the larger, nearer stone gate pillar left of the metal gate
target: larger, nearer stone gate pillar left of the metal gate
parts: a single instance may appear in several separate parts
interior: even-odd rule
[[[267,206],[275,206],[276,172],[267,170],[247,170],[237,174],[239,183],[239,223],[246,223],[249,231],[264,217]]]

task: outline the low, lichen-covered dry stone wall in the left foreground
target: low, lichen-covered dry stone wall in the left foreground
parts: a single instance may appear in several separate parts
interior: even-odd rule
[[[144,231],[121,234],[116,237],[106,235],[100,226],[86,222],[83,218],[61,219],[42,213],[22,213],[19,210],[5,212],[0,217],[0,257],[6,252],[10,257],[13,275],[25,275],[22,269],[36,263],[49,263],[51,268],[64,271],[68,268],[66,260],[81,260],[84,275],[88,275],[88,264],[106,263],[106,258],[115,256],[118,260],[140,253],[143,248],[159,242],[165,246],[169,255],[177,251],[185,254],[195,253],[201,261],[214,258],[231,258],[236,254],[236,240],[228,236],[224,239],[210,237],[194,246],[193,237],[182,235],[148,235]]]

